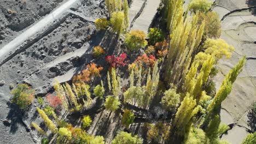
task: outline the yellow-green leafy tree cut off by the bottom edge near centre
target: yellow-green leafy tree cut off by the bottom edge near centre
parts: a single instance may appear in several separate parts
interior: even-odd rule
[[[115,139],[112,141],[112,144],[142,144],[143,139],[139,138],[137,135],[132,136],[131,133],[126,133],[121,131]]]

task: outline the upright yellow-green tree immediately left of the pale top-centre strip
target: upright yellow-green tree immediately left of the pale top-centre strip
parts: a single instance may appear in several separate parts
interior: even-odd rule
[[[123,12],[114,12],[110,18],[110,24],[114,32],[118,34],[123,33],[124,29],[124,13]]]

